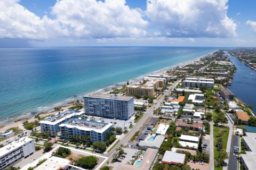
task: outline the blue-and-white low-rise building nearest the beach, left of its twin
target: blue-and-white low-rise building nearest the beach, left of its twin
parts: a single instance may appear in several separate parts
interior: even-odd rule
[[[59,125],[65,123],[73,118],[78,118],[84,115],[82,111],[67,110],[62,113],[56,114],[52,117],[46,117],[40,121],[42,131],[48,131],[51,136],[56,136],[59,132]]]

